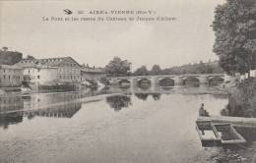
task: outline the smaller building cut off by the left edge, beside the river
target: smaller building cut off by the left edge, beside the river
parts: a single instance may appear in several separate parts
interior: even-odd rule
[[[23,69],[17,66],[0,65],[0,87],[21,86]]]

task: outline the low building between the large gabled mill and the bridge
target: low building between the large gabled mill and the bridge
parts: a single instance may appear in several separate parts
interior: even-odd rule
[[[98,81],[101,78],[106,77],[106,74],[102,68],[91,68],[89,66],[83,66],[81,68],[82,81],[95,80]]]

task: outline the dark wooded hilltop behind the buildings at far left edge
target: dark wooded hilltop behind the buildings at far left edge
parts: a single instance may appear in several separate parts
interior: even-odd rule
[[[14,65],[23,59],[23,53],[0,50],[0,65]]]

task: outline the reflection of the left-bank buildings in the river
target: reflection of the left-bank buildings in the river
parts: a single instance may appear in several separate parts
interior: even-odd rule
[[[0,127],[23,122],[24,117],[72,118],[82,107],[85,96],[91,92],[37,93],[0,96]]]

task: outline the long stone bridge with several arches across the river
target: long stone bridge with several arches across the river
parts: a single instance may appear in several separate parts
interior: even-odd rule
[[[224,74],[193,74],[193,75],[160,75],[160,76],[131,76],[131,77],[116,77],[112,78],[112,84],[130,84],[138,85],[143,82],[148,82],[151,85],[165,84],[166,86],[183,85],[189,82],[198,84],[211,84],[214,82],[224,82],[227,76]]]

